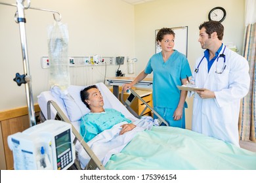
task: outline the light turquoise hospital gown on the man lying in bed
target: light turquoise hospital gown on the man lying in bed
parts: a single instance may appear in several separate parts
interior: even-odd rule
[[[121,122],[130,124],[131,120],[114,108],[105,108],[105,112],[90,112],[81,118],[80,134],[85,142],[88,142],[105,129]]]

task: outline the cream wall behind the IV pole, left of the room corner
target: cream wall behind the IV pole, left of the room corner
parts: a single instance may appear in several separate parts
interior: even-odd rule
[[[2,2],[2,1],[1,1]],[[16,1],[5,1],[15,3]],[[68,24],[69,56],[134,56],[134,7],[120,0],[32,0],[32,7],[57,10],[62,23]],[[0,111],[26,106],[24,84],[12,80],[24,74],[19,26],[14,22],[16,7],[0,5]],[[37,95],[49,90],[48,71],[41,69],[41,57],[48,56],[47,26],[53,24],[50,12],[26,10],[28,58],[32,75],[34,103]],[[107,68],[106,76],[116,76],[117,65]],[[122,65],[120,69],[124,71]],[[105,68],[76,67],[70,69],[72,84],[85,85],[104,81]]]

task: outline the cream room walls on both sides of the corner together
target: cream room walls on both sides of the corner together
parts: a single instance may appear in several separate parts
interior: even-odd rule
[[[14,2],[14,1],[13,1]],[[224,42],[234,42],[240,54],[244,37],[245,0],[155,0],[129,5],[120,0],[32,0],[32,7],[58,10],[62,22],[68,24],[69,55],[129,56],[138,58],[136,75],[144,69],[155,52],[155,30],[161,27],[188,26],[188,61],[194,67],[203,50],[198,42],[198,26],[207,21],[209,10],[221,6],[227,16],[223,22]],[[26,106],[24,85],[12,81],[23,74],[20,33],[14,22],[15,7],[0,5],[1,95],[0,110]],[[48,69],[41,69],[41,56],[47,56],[47,25],[53,23],[49,12],[26,10],[28,57],[32,75],[34,102],[40,92],[49,90]],[[120,67],[127,73],[126,65]],[[116,74],[117,65],[108,67],[106,76]],[[77,67],[70,69],[72,84],[103,82],[104,68]],[[191,127],[192,99],[187,99],[187,127]]]

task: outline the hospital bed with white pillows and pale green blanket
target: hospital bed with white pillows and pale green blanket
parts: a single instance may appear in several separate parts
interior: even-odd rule
[[[129,112],[103,83],[96,86],[102,93],[104,108],[115,108],[127,118],[142,121]],[[255,152],[188,129],[156,123],[150,130],[136,132],[121,150],[113,151],[115,148],[108,147],[108,142],[116,144],[112,139],[102,144],[97,144],[98,140],[91,142],[94,139],[85,143],[79,136],[79,120],[89,112],[80,99],[79,92],[83,88],[85,86],[70,86],[68,94],[52,90],[37,96],[42,116],[73,125],[75,136],[78,136],[74,169],[256,169]]]

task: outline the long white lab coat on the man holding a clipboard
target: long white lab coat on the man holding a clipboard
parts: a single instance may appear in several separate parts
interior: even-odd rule
[[[223,53],[223,49],[220,53]],[[244,57],[228,48],[224,51],[224,55],[226,68],[222,74],[215,73],[217,59],[208,73],[206,58],[202,60],[198,73],[193,73],[196,86],[215,92],[215,99],[201,99],[195,93],[192,131],[239,146],[240,99],[249,91],[249,65]],[[194,69],[198,67],[202,58],[203,56],[198,59]],[[223,58],[219,59],[217,67],[223,67]]]

